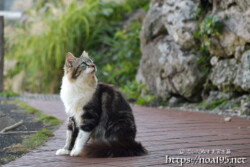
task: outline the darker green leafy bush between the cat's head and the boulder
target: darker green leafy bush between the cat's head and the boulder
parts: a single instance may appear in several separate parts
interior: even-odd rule
[[[118,30],[108,43],[108,61],[103,68],[106,82],[121,86],[134,80],[139,65],[140,22],[132,22],[127,29]]]

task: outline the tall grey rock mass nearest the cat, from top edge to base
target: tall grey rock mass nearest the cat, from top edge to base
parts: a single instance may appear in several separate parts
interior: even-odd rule
[[[197,100],[202,72],[195,46],[193,21],[199,1],[152,1],[140,34],[142,59],[137,81],[156,95],[168,99],[172,94]],[[199,92],[199,91],[198,91]]]

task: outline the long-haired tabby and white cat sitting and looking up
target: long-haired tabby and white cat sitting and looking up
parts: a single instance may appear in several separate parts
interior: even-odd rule
[[[97,68],[83,52],[67,53],[60,97],[68,115],[66,144],[56,155],[126,157],[147,154],[135,141],[132,109],[113,86],[98,83]]]

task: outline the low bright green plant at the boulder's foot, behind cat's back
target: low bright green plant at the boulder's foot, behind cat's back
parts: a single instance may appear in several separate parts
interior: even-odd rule
[[[155,99],[144,84],[137,83],[136,81],[127,83],[127,85],[120,88],[120,90],[126,98],[138,105],[148,104]]]

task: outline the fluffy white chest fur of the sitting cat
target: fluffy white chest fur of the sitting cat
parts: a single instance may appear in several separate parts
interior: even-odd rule
[[[71,82],[66,76],[63,77],[60,96],[69,117],[74,117],[78,125],[81,124],[83,106],[87,104],[95,92],[91,87],[80,81]]]

